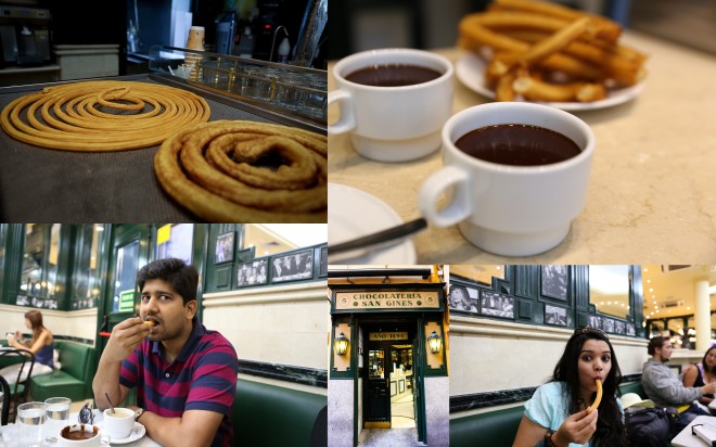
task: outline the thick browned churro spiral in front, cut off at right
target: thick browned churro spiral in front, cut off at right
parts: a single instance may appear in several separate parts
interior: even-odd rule
[[[218,120],[164,141],[154,171],[169,195],[207,221],[325,222],[327,162],[324,136]]]

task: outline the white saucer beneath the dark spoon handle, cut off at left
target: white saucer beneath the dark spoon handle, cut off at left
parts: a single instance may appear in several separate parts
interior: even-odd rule
[[[329,246],[402,224],[385,202],[355,188],[329,182]],[[341,264],[415,264],[415,246],[406,239]]]

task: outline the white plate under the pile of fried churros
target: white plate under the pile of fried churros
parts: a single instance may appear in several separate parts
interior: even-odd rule
[[[495,99],[495,92],[485,87],[485,66],[484,59],[473,53],[463,54],[455,66],[455,73],[462,84],[469,89],[476,91],[483,97]],[[611,89],[606,92],[606,99],[593,102],[541,102],[563,111],[592,111],[597,108],[611,107],[630,101],[641,93],[644,82],[641,81],[635,86],[621,89]],[[537,102],[537,101],[535,101]]]

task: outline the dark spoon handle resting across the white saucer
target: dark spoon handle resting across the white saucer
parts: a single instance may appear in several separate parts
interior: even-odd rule
[[[342,242],[340,244],[329,245],[329,259],[331,263],[336,263],[340,259],[355,258],[367,252],[373,252],[386,246],[393,246],[400,242],[406,237],[417,233],[427,228],[427,221],[424,218],[410,220],[400,224],[396,227],[388,228],[372,234],[363,235],[351,241]]]

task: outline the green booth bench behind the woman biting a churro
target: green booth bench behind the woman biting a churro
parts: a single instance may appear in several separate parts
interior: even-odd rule
[[[637,393],[648,398],[640,382],[624,383],[619,389],[623,395]],[[490,447],[511,447],[524,410],[524,405],[519,405],[451,419],[450,447],[473,447],[488,440]]]

